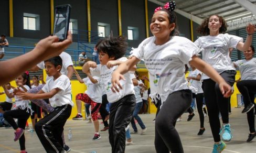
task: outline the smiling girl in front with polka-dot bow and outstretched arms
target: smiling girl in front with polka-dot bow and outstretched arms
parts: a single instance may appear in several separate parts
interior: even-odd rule
[[[168,2],[164,8],[157,8],[152,17],[150,29],[153,37],[147,38],[133,50],[131,58],[120,64],[112,74],[112,90],[121,88],[124,77],[141,59],[144,60],[154,90],[161,97],[162,106],[155,119],[156,152],[184,152],[175,123],[190,106],[192,93],[185,80],[184,64],[191,63],[200,71],[210,75],[218,82],[224,96],[231,95],[231,86],[207,63],[196,55],[199,48],[193,42],[175,36],[176,16],[174,2]],[[119,89],[120,90],[120,89]]]

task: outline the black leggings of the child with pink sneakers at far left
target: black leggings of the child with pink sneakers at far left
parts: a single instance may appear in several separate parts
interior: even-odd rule
[[[4,119],[10,124],[12,125],[13,129],[17,129],[19,128],[23,128],[25,129],[26,127],[26,122],[27,119],[30,116],[30,112],[27,112],[27,108],[25,110],[10,110],[10,111],[6,111],[4,113]],[[18,118],[18,125],[16,124],[16,122],[14,121],[13,118]],[[19,138],[19,146],[20,146],[20,150],[25,150],[25,135],[23,134],[20,138]]]

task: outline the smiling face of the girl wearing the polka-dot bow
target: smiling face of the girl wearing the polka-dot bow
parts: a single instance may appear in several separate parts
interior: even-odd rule
[[[150,29],[155,37],[169,37],[175,24],[170,24],[168,14],[162,10],[156,12],[151,20]]]

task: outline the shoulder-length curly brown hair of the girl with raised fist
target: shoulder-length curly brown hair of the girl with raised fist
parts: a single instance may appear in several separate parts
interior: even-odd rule
[[[223,34],[224,32],[226,32],[228,25],[227,25],[225,19],[223,19],[222,16],[219,16],[217,14],[212,15],[212,16],[217,16],[220,20],[221,27],[219,28],[219,33]],[[210,16],[210,17],[212,17],[212,16]],[[209,23],[210,17],[208,17],[208,18],[204,19],[204,21],[202,21],[201,25],[197,29],[198,34],[201,34],[202,36],[210,35],[210,29],[208,28],[208,23]]]

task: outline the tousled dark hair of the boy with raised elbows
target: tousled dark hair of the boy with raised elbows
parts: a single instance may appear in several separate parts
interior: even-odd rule
[[[116,60],[124,56],[128,43],[126,42],[125,36],[113,37],[110,35],[109,37],[101,39],[96,47],[98,53],[104,52],[108,54],[110,58],[114,57],[114,60]]]

